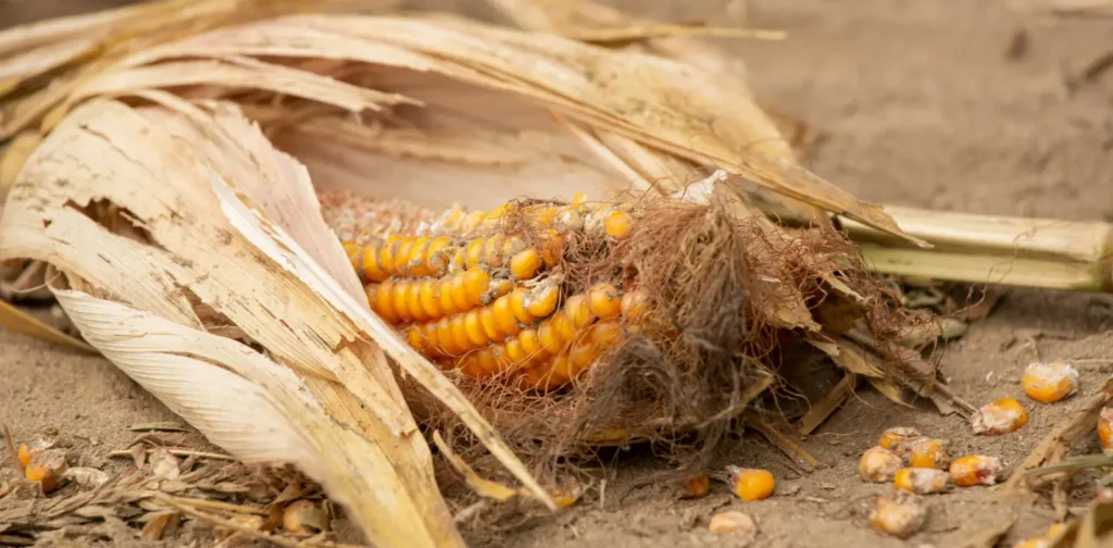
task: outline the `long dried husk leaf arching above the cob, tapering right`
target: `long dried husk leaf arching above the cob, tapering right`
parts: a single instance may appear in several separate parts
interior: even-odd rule
[[[660,57],[444,18],[303,14],[216,29],[127,56],[120,65],[137,68],[186,56],[347,59],[433,72],[519,95],[591,127],[729,169],[789,198],[899,234],[879,207],[858,202],[810,172],[755,147],[749,120],[760,110],[756,106],[720,108],[738,100],[735,87],[721,86],[716,75],[700,68]],[[164,76],[168,84],[181,81],[180,76]],[[243,80],[229,81],[219,72],[207,84],[237,82]],[[157,78],[150,77],[136,85],[159,87]],[[114,89],[121,87],[118,84]],[[292,85],[284,92],[306,95]],[[334,97],[323,94],[315,99]],[[700,138],[693,139],[696,135]],[[731,182],[731,186],[739,184]]]

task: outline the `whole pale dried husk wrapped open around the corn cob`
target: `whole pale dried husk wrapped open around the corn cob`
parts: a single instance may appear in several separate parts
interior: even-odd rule
[[[733,72],[456,17],[275,14],[293,3],[175,12],[170,0],[79,20],[81,33],[0,35],[3,51],[42,53],[0,62],[19,90],[0,105],[0,137],[30,131],[37,145],[6,164],[18,175],[0,258],[49,263],[93,346],[236,457],[305,470],[373,544],[462,544],[395,374],[455,412],[521,492],[554,503],[367,310],[314,187],[490,207],[682,193],[693,172],[721,168],[740,214],[752,183],[903,234],[787,147],[755,146],[776,128]],[[49,47],[60,52],[37,49]],[[817,327],[802,301],[780,322]],[[234,394],[246,395],[226,404]]]

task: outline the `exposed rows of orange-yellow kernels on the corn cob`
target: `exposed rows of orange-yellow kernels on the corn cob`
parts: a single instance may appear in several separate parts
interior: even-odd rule
[[[522,234],[500,226],[511,215],[524,221]],[[420,353],[467,376],[553,390],[636,331],[629,323],[646,307],[640,292],[607,282],[565,295],[564,243],[577,232],[614,243],[629,236],[632,221],[620,206],[577,196],[568,205],[452,209],[417,234],[343,245],[371,309]]]

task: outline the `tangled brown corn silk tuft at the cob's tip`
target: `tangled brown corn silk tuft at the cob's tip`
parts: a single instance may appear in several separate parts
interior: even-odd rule
[[[401,200],[336,190],[321,195],[323,204],[338,205],[326,205],[324,216],[342,238],[400,234],[383,226],[408,227],[402,235],[435,234],[445,216]],[[512,202],[498,222],[467,236],[501,234],[536,243],[536,224],[514,205],[538,206],[538,200]],[[646,295],[647,312],[622,320],[620,344],[560,386],[522,382],[513,371],[477,376],[451,362],[442,365],[544,481],[560,483],[562,470],[575,471],[601,446],[650,441],[695,461],[722,440],[746,408],[776,413],[777,399],[792,398],[800,380],[795,375],[802,374],[785,368],[786,360],[817,354],[808,337],[823,340],[848,329],[820,309],[851,311],[883,343],[932,321],[900,309],[867,274],[857,248],[831,228],[770,231],[764,217],[739,218],[718,199],[701,204],[644,196],[622,207],[633,218],[629,237],[562,231],[560,263],[534,281],[561,281],[558,309],[599,282]],[[849,302],[830,280],[857,299]],[[426,400],[414,393],[410,399]],[[450,432],[453,449],[469,461],[494,469],[451,413],[425,403],[415,408],[426,425]]]

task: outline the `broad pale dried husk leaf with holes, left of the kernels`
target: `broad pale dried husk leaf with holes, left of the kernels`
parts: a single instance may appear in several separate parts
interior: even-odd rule
[[[144,350],[166,352],[167,346],[176,348],[168,352],[173,355],[164,360],[142,355],[144,364],[162,364],[156,368],[158,373],[150,373],[155,379],[147,384],[148,389],[187,420],[193,419],[190,422],[199,430],[234,454],[260,458],[253,453],[253,443],[262,443],[262,440],[249,438],[247,446],[236,444],[235,440],[242,440],[242,432],[224,430],[230,424],[229,418],[214,421],[183,405],[189,398],[206,394],[206,385],[229,385],[235,381],[225,378],[213,382],[210,375],[219,373],[205,374],[197,370],[191,371],[188,379],[209,378],[210,381],[183,388],[181,383],[190,381],[174,375],[175,382],[169,385],[154,382],[165,381],[160,375],[166,375],[166,370],[214,368],[208,362],[187,358],[203,353],[201,348],[215,345],[208,339],[196,340],[204,335],[196,331],[204,324],[191,300],[199,300],[230,320],[252,340],[264,344],[275,359],[303,373],[304,385],[293,393],[302,398],[312,394],[321,402],[328,421],[306,423],[295,417],[290,418],[290,429],[301,436],[332,432],[329,436],[335,437],[332,440],[335,443],[311,446],[306,453],[331,459],[325,464],[317,464],[314,477],[326,489],[331,488],[331,495],[337,500],[354,509],[368,538],[384,539],[387,545],[393,544],[390,539],[401,541],[402,538],[429,546],[459,544],[459,534],[432,478],[427,446],[416,431],[382,351],[371,343],[367,333],[394,337],[394,341],[386,341],[392,356],[434,394],[440,394],[451,409],[460,410],[465,423],[476,425],[477,433],[494,453],[508,460],[512,472],[545,500],[543,491],[535,483],[530,485],[532,478],[501,446],[498,436],[485,427],[455,386],[396,340],[393,332],[366,311],[365,305],[352,299],[348,291],[341,288],[335,280],[344,280],[344,273],[354,283],[351,268],[337,272],[334,280],[286,231],[247,202],[253,190],[266,197],[260,193],[267,189],[265,183],[292,188],[307,185],[304,168],[303,177],[296,177],[296,163],[277,155],[262,136],[253,140],[237,135],[249,127],[243,120],[221,124],[210,116],[206,123],[203,112],[198,109],[184,116],[165,108],[134,110],[111,101],[97,101],[75,111],[36,151],[13,187],[0,228],[0,253],[6,257],[48,261],[62,272],[88,281],[100,293],[119,301],[120,306],[148,309],[150,312],[144,314],[154,314],[151,317],[109,323],[145,333],[147,336],[141,339],[135,337],[135,331],[130,335],[141,341]],[[175,130],[187,133],[183,127],[193,127],[196,135],[190,137],[201,143],[210,139],[211,144],[197,145],[195,141],[194,147],[180,146],[183,137],[175,135]],[[224,141],[214,137],[221,133],[237,140]],[[220,154],[226,150],[223,147],[229,146],[233,151]],[[248,160],[250,163],[243,164]],[[294,174],[295,177],[276,177],[267,182],[266,175],[257,175],[262,183],[249,183],[252,173],[246,166],[264,163],[279,166],[277,174]],[[229,186],[233,182],[238,182],[239,186]],[[280,192],[268,190],[268,196],[283,196]],[[302,193],[305,192],[312,194],[303,188]],[[299,195],[294,193],[289,198],[296,199]],[[126,208],[131,223],[146,231],[154,245],[114,235],[80,211],[98,199]],[[286,200],[287,205],[290,203],[294,202]],[[280,207],[270,209],[282,215]],[[286,215],[294,213],[286,212]],[[313,207],[301,213],[317,216],[319,223],[319,213]],[[296,232],[297,226],[293,228]],[[333,239],[331,251],[343,262],[338,243]],[[214,254],[213,248],[221,253]],[[318,251],[328,252],[329,248]],[[117,264],[129,266],[119,268]],[[75,306],[72,300],[63,301],[63,305],[71,315],[80,314],[80,311],[69,310]],[[154,336],[150,325],[159,316],[167,317],[164,322],[169,325],[187,331],[170,331],[173,334],[165,340]],[[275,322],[276,317],[283,321]],[[97,334],[89,331],[88,320],[76,319],[76,322],[90,341],[96,340]],[[195,335],[193,341],[186,337],[189,330]],[[160,345],[152,341],[160,341]],[[106,351],[104,341],[93,344]],[[238,352],[229,351],[214,362],[230,368],[227,361],[247,350],[239,348]],[[259,355],[254,351],[252,354]],[[128,363],[127,360],[134,356],[109,358],[117,363]],[[136,375],[141,373],[136,370]],[[256,384],[263,382],[245,376]],[[343,386],[337,381],[343,382]],[[244,383],[250,385],[250,382]],[[246,390],[246,386],[237,388],[225,392],[224,398]],[[274,397],[272,391],[277,388],[266,388],[264,393]],[[211,407],[220,407],[209,401],[216,398],[211,395],[216,392],[209,389],[205,397]],[[260,409],[263,405],[256,403]],[[244,413],[245,417],[257,414]],[[288,440],[290,437],[279,438]],[[274,449],[273,446],[259,447]],[[297,457],[286,452],[287,449],[283,447],[282,451],[262,454],[279,461]],[[312,463],[303,466],[312,468]],[[358,469],[363,471],[353,474],[353,470]]]

